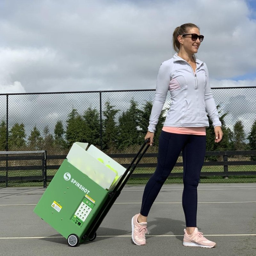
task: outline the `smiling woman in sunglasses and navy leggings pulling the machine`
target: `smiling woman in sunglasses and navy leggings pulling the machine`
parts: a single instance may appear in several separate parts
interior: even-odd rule
[[[137,245],[146,244],[149,210],[182,151],[182,206],[186,220],[183,245],[212,248],[216,244],[202,236],[196,227],[197,186],[205,156],[205,127],[209,126],[207,114],[212,120],[217,143],[223,135],[221,122],[212,96],[207,66],[195,56],[204,36],[200,35],[195,24],[186,23],[174,30],[172,39],[173,49],[177,53],[160,66],[145,136],[145,139],[150,139],[151,146],[168,91],[172,103],[159,137],[156,171],[144,189],[140,213],[132,218],[132,240]]]

